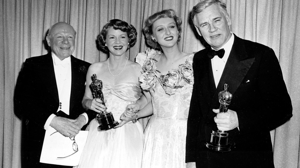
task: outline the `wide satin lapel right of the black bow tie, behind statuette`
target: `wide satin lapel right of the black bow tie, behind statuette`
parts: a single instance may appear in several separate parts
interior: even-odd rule
[[[232,94],[234,99],[234,93],[237,90],[238,86],[243,81],[246,76],[249,68],[254,62],[255,58],[249,57],[245,53],[244,42],[238,38],[234,37],[234,43],[232,45],[231,52],[227,59],[224,71],[222,73],[221,79],[218,83],[216,92],[212,98],[212,108],[216,108],[220,105],[218,102],[219,92],[224,90],[224,84],[228,84],[228,91]],[[212,117],[214,114],[211,113]]]

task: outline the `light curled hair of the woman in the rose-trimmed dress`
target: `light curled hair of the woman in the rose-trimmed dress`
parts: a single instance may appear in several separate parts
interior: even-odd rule
[[[155,21],[157,21],[158,19],[167,18],[167,17],[174,19],[174,21],[176,23],[176,27],[178,29],[178,40],[177,40],[177,42],[180,41],[180,34],[182,32],[182,29],[181,29],[182,21],[179,17],[176,16],[176,13],[173,9],[167,9],[167,10],[163,10],[161,12],[154,13],[153,15],[149,16],[146,20],[146,26],[144,27],[143,30],[144,30],[144,33],[145,33],[145,36],[146,36],[147,44],[149,46],[151,46],[152,48],[156,48],[156,49],[161,50],[161,47],[158,44],[158,42],[153,41],[153,39],[151,38],[151,35],[153,35],[153,31],[152,31],[153,23]]]

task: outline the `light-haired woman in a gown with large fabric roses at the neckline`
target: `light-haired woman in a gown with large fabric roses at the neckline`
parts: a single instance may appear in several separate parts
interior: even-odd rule
[[[150,92],[152,100],[137,114],[139,117],[153,114],[144,131],[143,168],[186,167],[185,145],[194,83],[194,54],[184,53],[178,48],[181,23],[172,9],[149,16],[144,33],[148,45],[154,49],[136,57],[136,62],[143,68],[139,77],[141,87]],[[132,115],[140,109],[138,103],[128,105],[125,115]]]

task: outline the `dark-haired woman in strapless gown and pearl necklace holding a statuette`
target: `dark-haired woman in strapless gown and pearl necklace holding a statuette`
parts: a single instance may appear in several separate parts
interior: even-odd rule
[[[78,167],[140,168],[142,165],[143,127],[139,121],[123,115],[126,106],[135,103],[142,95],[138,81],[142,68],[125,56],[136,43],[136,36],[137,31],[132,25],[118,19],[108,21],[98,35],[100,48],[109,54],[109,58],[88,68],[82,105],[98,113],[112,112],[114,119],[120,120],[118,126],[105,131],[98,131],[96,119],[91,121]],[[105,105],[92,96],[90,85],[93,74],[102,81]],[[150,97],[148,95],[142,99],[146,100],[145,97]]]

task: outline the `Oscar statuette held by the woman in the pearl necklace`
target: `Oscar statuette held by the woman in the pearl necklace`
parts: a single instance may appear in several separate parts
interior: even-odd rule
[[[93,74],[93,82],[91,83],[92,89],[93,89],[93,98],[99,98],[102,100],[102,104],[105,105],[104,103],[104,98],[103,98],[103,92],[102,92],[102,81],[97,79],[96,74]],[[108,130],[111,128],[114,128],[115,126],[119,125],[118,121],[115,121],[113,119],[113,114],[112,112],[107,112],[104,110],[103,113],[97,114],[96,119],[98,120],[98,123],[100,126],[98,127],[98,130]]]

